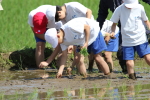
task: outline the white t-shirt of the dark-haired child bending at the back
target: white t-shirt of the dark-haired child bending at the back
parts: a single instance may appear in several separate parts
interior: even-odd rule
[[[78,2],[69,2],[64,4],[66,6],[66,17],[61,20],[63,24],[67,23],[73,18],[86,17],[88,8]],[[94,20],[92,15],[91,19]]]

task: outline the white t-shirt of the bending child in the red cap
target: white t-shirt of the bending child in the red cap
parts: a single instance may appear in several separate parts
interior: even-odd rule
[[[38,8],[32,10],[30,13],[29,13],[29,16],[28,16],[28,24],[31,26],[31,27],[34,27],[33,25],[33,16],[37,13],[37,12],[43,12],[45,15],[46,15],[46,10],[48,8],[52,8],[54,9],[54,6],[51,6],[51,5],[42,5],[42,6],[39,6]],[[48,24],[47,24],[47,28],[57,28],[59,29],[60,27],[62,26],[62,22],[59,21],[59,22],[55,22],[55,23],[51,23],[50,21],[48,21]]]

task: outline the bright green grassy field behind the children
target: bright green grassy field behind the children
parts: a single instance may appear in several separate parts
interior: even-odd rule
[[[27,23],[31,10],[44,4],[63,5],[74,0],[3,0],[3,11],[0,11],[0,52],[10,52],[24,48],[35,48],[34,35]],[[93,12],[97,18],[99,0],[76,0]],[[141,2],[148,13],[149,5]],[[110,19],[112,13],[108,15]],[[49,46],[49,44],[47,44]]]

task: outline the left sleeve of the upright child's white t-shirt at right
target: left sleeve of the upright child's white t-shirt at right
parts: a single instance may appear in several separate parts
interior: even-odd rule
[[[110,21],[112,21],[113,23],[118,23],[120,20],[120,7],[117,7],[110,19]]]

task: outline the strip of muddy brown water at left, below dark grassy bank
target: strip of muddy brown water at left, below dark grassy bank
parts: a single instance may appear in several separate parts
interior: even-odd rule
[[[33,80],[42,78],[54,78],[56,69],[29,69],[23,71],[0,72],[0,80]]]

